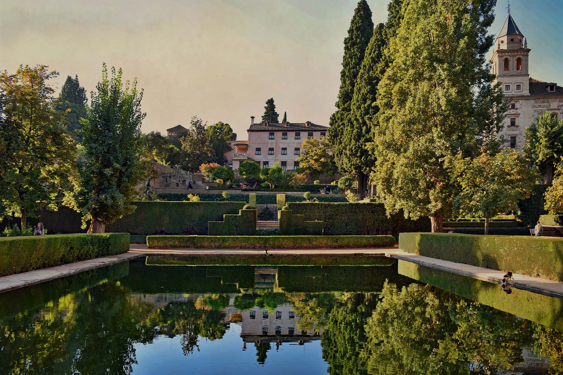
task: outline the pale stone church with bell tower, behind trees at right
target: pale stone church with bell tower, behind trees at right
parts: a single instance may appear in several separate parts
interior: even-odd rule
[[[546,111],[558,118],[563,115],[563,87],[530,77],[530,51],[524,34],[508,13],[495,40],[490,64],[491,73],[497,76],[494,83],[501,83],[504,96],[510,101],[504,128],[498,137],[504,138],[505,147],[519,152],[526,143],[526,128],[540,115]]]

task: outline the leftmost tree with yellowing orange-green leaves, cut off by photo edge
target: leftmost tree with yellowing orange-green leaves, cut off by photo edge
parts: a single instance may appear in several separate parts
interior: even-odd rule
[[[0,218],[21,218],[21,229],[42,204],[56,209],[53,200],[72,182],[76,146],[59,125],[63,115],[53,111],[48,80],[59,73],[47,68],[20,65],[15,74],[0,73]]]

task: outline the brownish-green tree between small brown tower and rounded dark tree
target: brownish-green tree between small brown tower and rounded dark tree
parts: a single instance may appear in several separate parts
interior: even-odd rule
[[[186,134],[180,138],[184,160],[180,163],[182,169],[195,172],[199,166],[213,161],[213,148],[209,144],[207,132],[202,119],[193,116],[190,121],[190,128]]]

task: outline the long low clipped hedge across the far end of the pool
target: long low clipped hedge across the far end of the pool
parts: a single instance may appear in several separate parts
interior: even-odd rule
[[[393,236],[148,236],[148,247],[189,249],[338,249],[395,245]]]

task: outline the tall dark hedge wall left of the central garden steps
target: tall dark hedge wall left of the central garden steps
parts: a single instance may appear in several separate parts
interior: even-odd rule
[[[106,226],[131,234],[207,234],[207,222],[237,214],[244,202],[135,202],[134,213]]]

